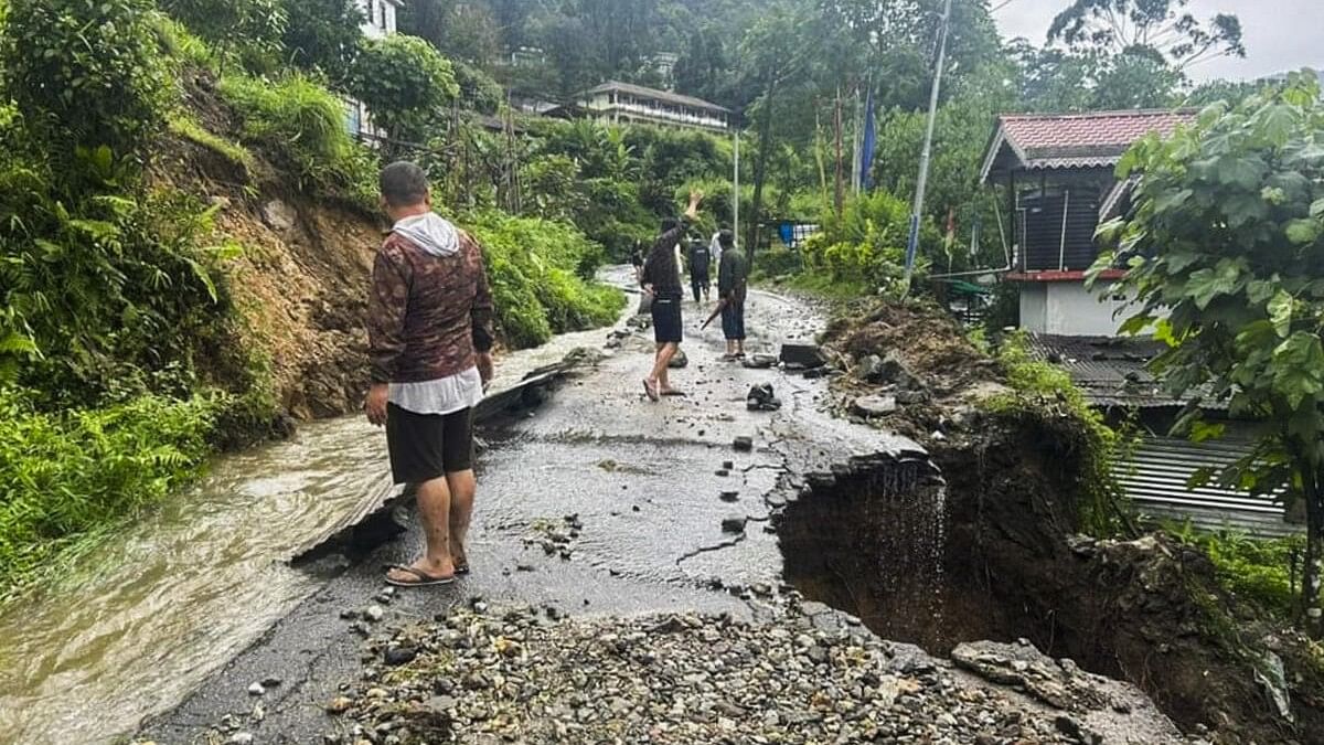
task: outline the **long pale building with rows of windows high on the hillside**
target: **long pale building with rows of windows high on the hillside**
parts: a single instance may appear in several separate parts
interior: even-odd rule
[[[727,131],[730,109],[700,98],[610,81],[575,95],[572,103],[551,113],[612,125],[659,125],[691,130]]]

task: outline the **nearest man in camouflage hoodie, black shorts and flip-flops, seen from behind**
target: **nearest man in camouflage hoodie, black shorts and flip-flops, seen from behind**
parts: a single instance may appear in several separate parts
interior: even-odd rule
[[[387,166],[381,205],[395,227],[372,268],[364,410],[387,428],[392,475],[416,490],[428,538],[426,554],[392,567],[387,582],[449,585],[469,573],[474,407],[493,378],[491,292],[482,249],[432,211],[422,168]]]

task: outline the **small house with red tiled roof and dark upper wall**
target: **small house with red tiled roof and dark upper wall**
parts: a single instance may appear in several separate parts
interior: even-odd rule
[[[1128,207],[1131,183],[1115,170],[1149,133],[1170,134],[1194,111],[1006,114],[984,158],[984,184],[1006,187],[1012,273],[1021,327],[1035,334],[1113,335],[1120,298],[1099,298],[1084,273],[1099,256],[1099,224]]]

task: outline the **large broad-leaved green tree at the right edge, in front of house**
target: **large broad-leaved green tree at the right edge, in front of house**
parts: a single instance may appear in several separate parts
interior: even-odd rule
[[[1229,109],[1215,103],[1166,141],[1149,137],[1119,166],[1143,174],[1129,217],[1100,229],[1116,241],[1096,270],[1125,261],[1113,292],[1140,310],[1124,329],[1155,329],[1153,362],[1174,395],[1226,402],[1259,420],[1254,448],[1221,473],[1233,488],[1286,485],[1307,516],[1300,612],[1321,622],[1324,563],[1324,103],[1311,72]],[[1190,407],[1177,431],[1222,435]]]

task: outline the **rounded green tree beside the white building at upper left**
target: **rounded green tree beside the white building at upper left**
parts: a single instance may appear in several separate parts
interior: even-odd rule
[[[459,94],[450,61],[425,40],[405,34],[360,44],[348,90],[388,137],[404,142],[425,142]]]

